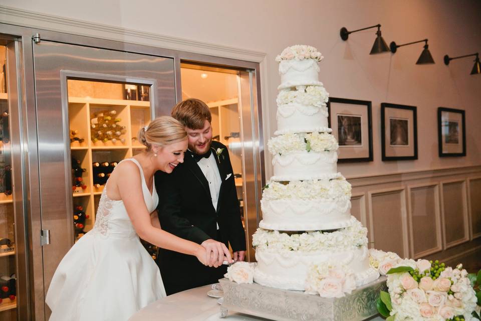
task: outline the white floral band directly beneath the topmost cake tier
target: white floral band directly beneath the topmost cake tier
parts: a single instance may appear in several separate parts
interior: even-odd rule
[[[307,86],[306,90],[281,90],[277,95],[278,106],[298,103],[305,106],[326,107],[329,93],[323,86]],[[327,113],[327,109],[326,109]],[[326,115],[327,116],[327,115]]]

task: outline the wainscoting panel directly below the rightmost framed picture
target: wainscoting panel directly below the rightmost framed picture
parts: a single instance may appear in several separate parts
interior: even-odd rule
[[[444,247],[450,248],[469,240],[466,181],[441,184]]]

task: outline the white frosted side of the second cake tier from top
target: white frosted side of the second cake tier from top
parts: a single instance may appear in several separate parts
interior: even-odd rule
[[[276,135],[297,132],[332,132],[327,116],[318,107],[301,104],[282,105],[277,108]]]

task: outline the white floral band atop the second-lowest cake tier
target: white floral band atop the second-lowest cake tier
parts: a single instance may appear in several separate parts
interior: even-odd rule
[[[269,182],[262,193],[263,200],[285,199],[350,199],[351,184],[346,179],[291,181],[284,185],[279,182]]]

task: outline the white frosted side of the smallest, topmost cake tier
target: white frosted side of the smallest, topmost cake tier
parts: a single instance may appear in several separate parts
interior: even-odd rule
[[[319,66],[315,59],[305,60],[283,60],[279,63],[279,74],[281,75],[281,86],[283,88],[297,85],[318,85]],[[280,88],[279,88],[280,89]]]

